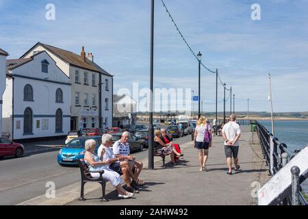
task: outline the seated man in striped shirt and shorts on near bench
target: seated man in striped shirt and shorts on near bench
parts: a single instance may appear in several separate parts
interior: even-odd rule
[[[129,150],[129,132],[125,131],[122,134],[122,137],[117,142],[114,142],[113,152],[116,158],[124,157],[125,161],[129,162],[131,166],[131,170],[135,168],[135,172],[133,173],[133,181],[131,182],[131,186],[135,187],[138,185],[144,185],[145,181],[138,179],[140,172],[142,171],[143,164],[136,160],[136,157],[130,155]],[[123,159],[123,158],[122,158]]]

